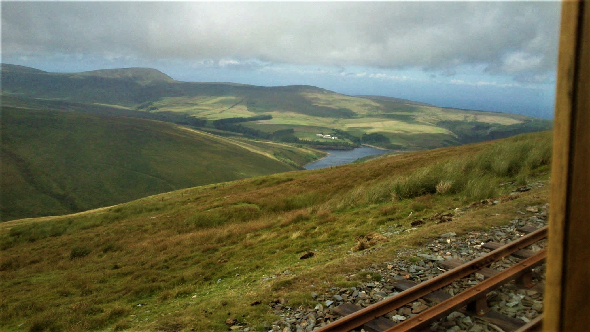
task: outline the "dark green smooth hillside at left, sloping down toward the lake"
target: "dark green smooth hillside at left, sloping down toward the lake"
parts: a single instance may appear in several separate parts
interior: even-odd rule
[[[171,123],[3,105],[2,220],[297,170],[321,156]]]

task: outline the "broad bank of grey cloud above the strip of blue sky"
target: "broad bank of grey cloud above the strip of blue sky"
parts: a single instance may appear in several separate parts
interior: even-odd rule
[[[555,70],[559,2],[2,2],[2,55]],[[231,63],[228,66],[231,67]]]

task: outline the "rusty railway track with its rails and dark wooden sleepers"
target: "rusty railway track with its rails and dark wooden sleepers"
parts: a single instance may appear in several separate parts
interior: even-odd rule
[[[443,264],[449,270],[430,280],[423,281],[420,284],[415,284],[407,280],[398,281],[395,284],[395,288],[401,290],[399,294],[372,304],[369,307],[361,308],[358,305],[347,303],[332,308],[334,313],[343,317],[316,331],[345,332],[359,327],[371,332],[430,331],[430,324],[445,315],[453,313],[453,311],[477,315],[481,320],[499,326],[504,331],[524,332],[539,330],[542,324],[542,315],[525,324],[516,318],[491,311],[487,307],[487,293],[513,280],[521,288],[543,291],[542,285],[532,283],[532,269],[545,262],[546,250],[543,249],[539,252],[533,252],[525,248],[539,240],[545,239],[547,237],[547,226],[540,229],[523,227],[519,230],[528,234],[506,245],[488,242],[482,248],[493,250],[467,263],[456,259],[445,261]],[[504,271],[496,271],[488,267],[491,263],[509,255],[522,260],[510,268],[504,269]],[[441,288],[450,285],[454,281],[476,272],[484,275],[486,279],[455,296],[440,291]],[[392,320],[382,317],[412,301],[418,300],[418,298],[422,298],[434,305],[400,323],[395,323]]]

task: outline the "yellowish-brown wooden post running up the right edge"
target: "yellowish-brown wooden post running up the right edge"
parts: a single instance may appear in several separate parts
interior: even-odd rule
[[[590,331],[590,2],[562,3],[543,330]]]

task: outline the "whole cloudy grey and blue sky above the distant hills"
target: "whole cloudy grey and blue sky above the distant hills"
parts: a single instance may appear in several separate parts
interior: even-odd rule
[[[559,2],[6,2],[2,62],[552,118]]]

